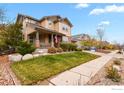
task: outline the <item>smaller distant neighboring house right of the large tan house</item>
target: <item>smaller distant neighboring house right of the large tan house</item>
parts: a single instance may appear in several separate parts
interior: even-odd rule
[[[76,43],[78,45],[78,48],[81,48],[81,44],[80,41],[84,41],[84,40],[90,40],[90,36],[88,34],[78,34],[78,35],[74,35],[71,37],[71,42]]]

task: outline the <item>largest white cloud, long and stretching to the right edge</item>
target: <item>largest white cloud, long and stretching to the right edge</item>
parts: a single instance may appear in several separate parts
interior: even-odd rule
[[[109,5],[105,8],[95,8],[89,14],[90,15],[99,15],[103,13],[121,13],[124,12],[124,5],[117,6],[117,5]]]

